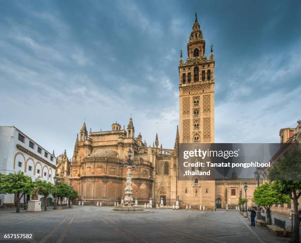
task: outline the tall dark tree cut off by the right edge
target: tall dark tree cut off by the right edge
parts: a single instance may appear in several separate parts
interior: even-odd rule
[[[301,150],[286,152],[269,169],[269,180],[277,193],[288,195],[294,204],[294,242],[299,242],[298,199],[301,196]]]

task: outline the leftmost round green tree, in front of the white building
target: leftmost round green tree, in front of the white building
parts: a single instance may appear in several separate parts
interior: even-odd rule
[[[23,172],[9,173],[1,175],[1,189],[4,193],[15,194],[17,199],[16,213],[20,213],[20,198],[24,194],[30,194],[33,190],[31,177],[24,175]],[[20,195],[21,194],[21,195]]]

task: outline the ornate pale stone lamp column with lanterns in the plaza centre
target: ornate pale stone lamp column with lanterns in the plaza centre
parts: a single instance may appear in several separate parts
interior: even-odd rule
[[[131,159],[132,157],[132,151],[129,149],[127,151],[127,159],[121,164],[122,167],[127,167],[127,172],[126,172],[126,186],[124,189],[124,199],[123,199],[123,204],[127,206],[132,206],[133,205],[133,188],[132,188],[132,178],[133,174],[131,172],[132,169],[135,169],[139,167],[139,164],[136,163],[134,166],[134,160]]]

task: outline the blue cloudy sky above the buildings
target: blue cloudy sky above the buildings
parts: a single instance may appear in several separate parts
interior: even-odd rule
[[[301,119],[301,1],[11,1],[0,7],[0,125],[72,155],[127,125],[173,148],[179,52],[198,14],[215,55],[215,142],[278,142]]]

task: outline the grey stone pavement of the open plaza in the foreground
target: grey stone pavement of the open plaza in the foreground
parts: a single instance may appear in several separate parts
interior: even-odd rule
[[[39,213],[0,210],[0,233],[34,233],[32,243],[286,243],[251,227],[237,211],[115,213],[112,207],[74,206]],[[28,242],[28,241],[3,241]]]

